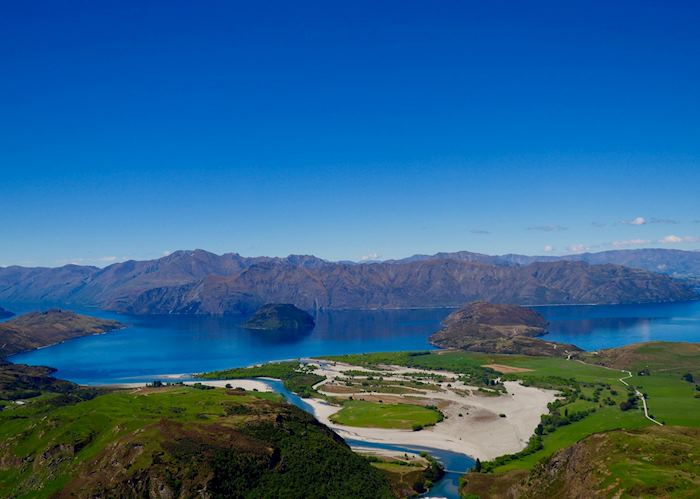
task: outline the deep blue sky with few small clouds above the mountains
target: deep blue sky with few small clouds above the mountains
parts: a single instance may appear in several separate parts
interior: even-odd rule
[[[700,248],[698,26],[697,2],[5,2],[0,265]]]

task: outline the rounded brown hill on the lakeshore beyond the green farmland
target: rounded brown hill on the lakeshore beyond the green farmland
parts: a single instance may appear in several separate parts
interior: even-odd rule
[[[472,352],[566,356],[579,352],[535,338],[546,332],[547,321],[529,308],[487,302],[469,303],[452,312],[430,342],[442,348]]]

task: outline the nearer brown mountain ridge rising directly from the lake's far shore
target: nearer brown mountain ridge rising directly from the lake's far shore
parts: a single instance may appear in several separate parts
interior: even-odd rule
[[[194,284],[149,290],[123,310],[230,313],[254,310],[265,302],[294,303],[307,310],[454,307],[475,300],[525,305],[643,303],[696,296],[666,276],[581,262],[503,267],[426,260],[313,269],[269,262],[229,277],[210,276]]]

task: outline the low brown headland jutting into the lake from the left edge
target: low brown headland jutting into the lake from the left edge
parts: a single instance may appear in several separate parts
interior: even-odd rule
[[[0,358],[121,327],[117,321],[57,309],[20,315],[0,323]]]

